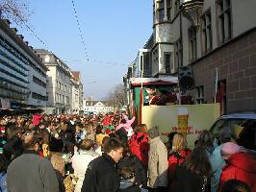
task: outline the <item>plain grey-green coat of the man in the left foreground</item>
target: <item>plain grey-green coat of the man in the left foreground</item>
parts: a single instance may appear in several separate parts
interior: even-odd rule
[[[7,187],[12,192],[58,192],[59,183],[48,159],[35,151],[16,157],[7,170]]]

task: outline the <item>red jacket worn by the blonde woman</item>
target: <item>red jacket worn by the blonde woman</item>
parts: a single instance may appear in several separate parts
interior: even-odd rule
[[[168,180],[171,181],[174,178],[174,172],[177,166],[180,166],[184,160],[190,156],[192,151],[190,149],[184,149],[180,153],[173,152],[168,157]]]

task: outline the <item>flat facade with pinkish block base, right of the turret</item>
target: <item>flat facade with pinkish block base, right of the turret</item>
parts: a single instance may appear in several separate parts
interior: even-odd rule
[[[194,103],[256,108],[256,1],[172,1],[174,73],[191,65]]]

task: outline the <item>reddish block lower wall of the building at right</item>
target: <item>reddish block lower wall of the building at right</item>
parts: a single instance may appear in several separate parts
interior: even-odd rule
[[[192,63],[192,68],[195,86],[204,85],[207,103],[214,101],[218,68],[218,80],[226,80],[227,112],[256,110],[256,30]]]

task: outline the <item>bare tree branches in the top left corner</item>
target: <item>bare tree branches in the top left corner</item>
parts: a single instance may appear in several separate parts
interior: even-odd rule
[[[31,15],[26,0],[1,0],[0,18],[7,18],[15,23],[26,23]]]

